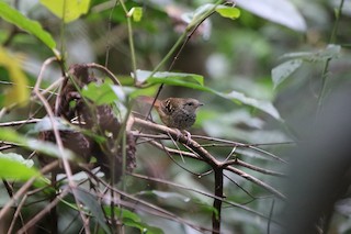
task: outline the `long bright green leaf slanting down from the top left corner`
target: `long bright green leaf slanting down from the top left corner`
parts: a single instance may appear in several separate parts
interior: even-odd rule
[[[58,54],[58,52],[55,49],[56,43],[54,38],[48,32],[43,30],[42,25],[38,22],[25,18],[19,11],[2,1],[0,2],[0,16],[9,23],[12,23],[18,27],[36,36],[47,47],[53,49],[55,54]]]

